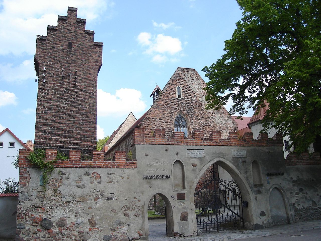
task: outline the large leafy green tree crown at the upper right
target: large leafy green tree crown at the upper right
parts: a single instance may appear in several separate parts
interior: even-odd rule
[[[226,53],[203,68],[207,108],[219,109],[232,99],[230,113],[269,110],[264,118],[297,151],[321,135],[321,2],[320,0],[238,0],[243,18]],[[228,94],[225,94],[228,93]],[[320,143],[320,142],[319,142]]]

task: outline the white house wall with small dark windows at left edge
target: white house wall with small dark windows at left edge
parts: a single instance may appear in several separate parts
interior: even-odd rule
[[[11,177],[19,181],[19,169],[14,169],[12,162],[16,159],[19,149],[24,147],[8,131],[0,136],[0,142],[3,142],[3,146],[0,147],[0,179],[4,181]],[[10,147],[10,142],[14,142],[14,147]]]

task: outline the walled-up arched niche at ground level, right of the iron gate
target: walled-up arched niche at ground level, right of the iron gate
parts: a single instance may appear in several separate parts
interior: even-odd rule
[[[281,190],[274,187],[269,196],[272,226],[290,223],[288,210]]]

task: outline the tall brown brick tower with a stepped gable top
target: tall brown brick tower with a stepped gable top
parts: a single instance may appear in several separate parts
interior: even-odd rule
[[[77,8],[58,15],[47,36],[37,35],[34,57],[39,77],[35,148],[96,150],[97,76],[102,43]]]

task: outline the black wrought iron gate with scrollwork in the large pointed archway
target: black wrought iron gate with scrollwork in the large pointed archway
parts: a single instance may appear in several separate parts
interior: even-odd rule
[[[241,192],[233,179],[213,175],[197,183],[194,201],[197,229],[203,233],[244,229]]]

